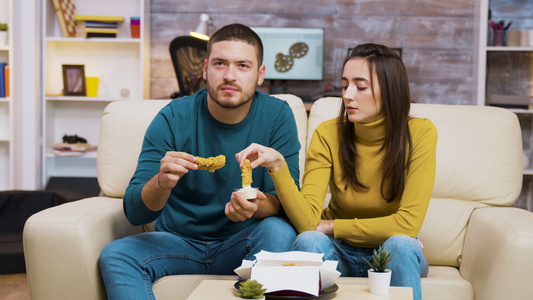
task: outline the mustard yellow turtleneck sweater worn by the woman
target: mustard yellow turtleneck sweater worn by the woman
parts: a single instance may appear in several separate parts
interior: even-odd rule
[[[400,200],[387,203],[381,196],[380,170],[386,135],[386,118],[354,123],[360,156],[357,176],[368,190],[344,189],[337,132],[338,118],[320,124],[313,134],[305,160],[301,191],[285,166],[271,177],[278,198],[298,232],[315,230],[320,219],[335,220],[334,237],[356,247],[378,247],[393,235],[416,237],[422,227],[435,180],[437,129],[428,119],[411,119],[411,165]],[[328,185],[331,200],[322,209]]]

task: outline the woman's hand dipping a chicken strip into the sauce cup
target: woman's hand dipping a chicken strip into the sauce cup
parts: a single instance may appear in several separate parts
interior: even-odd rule
[[[239,162],[240,166],[242,166],[244,160],[248,158],[252,168],[262,166],[268,168],[272,173],[279,171],[287,164],[285,162],[285,157],[283,157],[281,153],[275,149],[256,143],[250,144],[250,146],[246,147],[246,149],[235,154],[235,158]]]

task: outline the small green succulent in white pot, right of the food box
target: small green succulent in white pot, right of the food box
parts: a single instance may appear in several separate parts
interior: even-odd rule
[[[372,262],[369,262],[364,257],[363,259],[370,266],[370,269],[368,269],[370,293],[378,295],[388,294],[392,271],[387,269],[387,265],[392,259],[392,252],[379,247],[377,251],[374,249]]]

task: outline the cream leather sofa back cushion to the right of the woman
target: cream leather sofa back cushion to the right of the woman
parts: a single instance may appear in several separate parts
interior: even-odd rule
[[[433,197],[497,206],[516,201],[522,189],[516,114],[490,106],[438,104],[413,104],[411,114],[429,118],[439,133]]]

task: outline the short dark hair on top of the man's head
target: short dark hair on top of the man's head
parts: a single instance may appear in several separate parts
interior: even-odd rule
[[[261,38],[250,27],[238,23],[226,25],[217,30],[207,44],[207,57],[211,55],[213,44],[223,41],[237,41],[254,46],[259,66],[263,64],[263,43]]]

